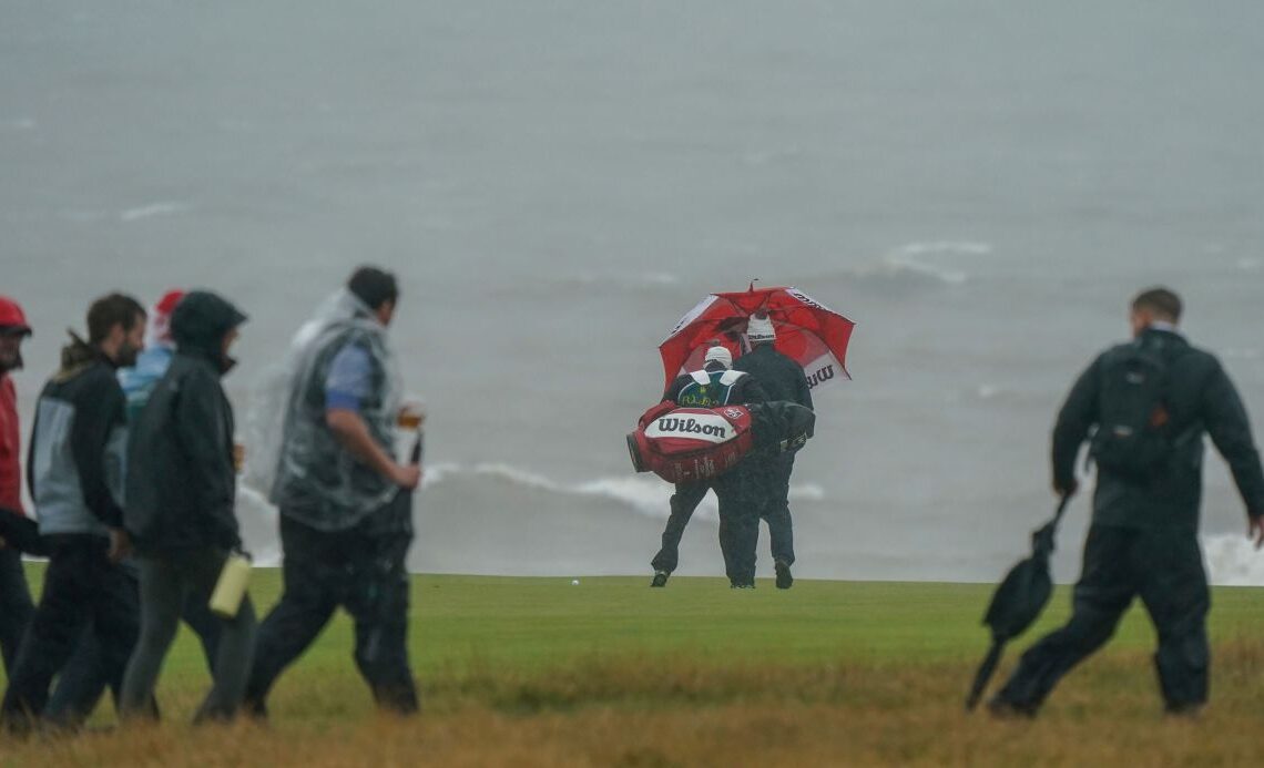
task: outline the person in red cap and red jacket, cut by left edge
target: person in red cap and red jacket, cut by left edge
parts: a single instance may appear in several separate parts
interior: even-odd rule
[[[21,431],[18,424],[18,392],[9,374],[21,369],[21,342],[30,326],[18,302],[0,296],[0,515],[11,525],[29,527],[32,520],[21,504]],[[13,673],[21,635],[35,606],[21,567],[16,542],[0,541],[0,654]]]

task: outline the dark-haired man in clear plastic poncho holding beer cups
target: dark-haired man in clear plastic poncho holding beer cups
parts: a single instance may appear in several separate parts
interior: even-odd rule
[[[298,335],[270,493],[284,591],[259,628],[246,687],[255,716],[339,605],[355,623],[355,662],[378,705],[418,709],[404,556],[421,467],[393,455],[402,409],[387,327],[398,298],[394,275],[362,267]]]

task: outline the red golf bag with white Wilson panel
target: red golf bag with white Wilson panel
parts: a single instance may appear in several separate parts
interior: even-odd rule
[[[628,452],[638,472],[669,483],[695,483],[720,475],[755,446],[751,413],[743,405],[680,408],[667,400],[653,405],[628,435]]]

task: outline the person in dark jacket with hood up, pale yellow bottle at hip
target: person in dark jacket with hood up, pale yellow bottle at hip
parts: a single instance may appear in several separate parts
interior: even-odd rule
[[[185,296],[171,317],[176,354],[131,428],[123,519],[139,557],[140,639],[123,678],[124,716],[155,715],[154,685],[182,614],[193,615],[195,630],[217,625],[214,685],[195,721],[231,719],[245,695],[254,606],[246,595],[220,620],[209,606],[224,563],[241,548],[233,407],[220,379],[235,365],[229,350],[243,322],[214,293]]]

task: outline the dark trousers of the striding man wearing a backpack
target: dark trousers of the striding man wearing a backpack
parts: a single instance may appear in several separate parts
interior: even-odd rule
[[[1071,620],[1023,654],[997,699],[1038,707],[1063,675],[1110,639],[1134,596],[1159,635],[1154,663],[1168,710],[1203,704],[1211,595],[1194,532],[1107,525],[1088,531]]]

